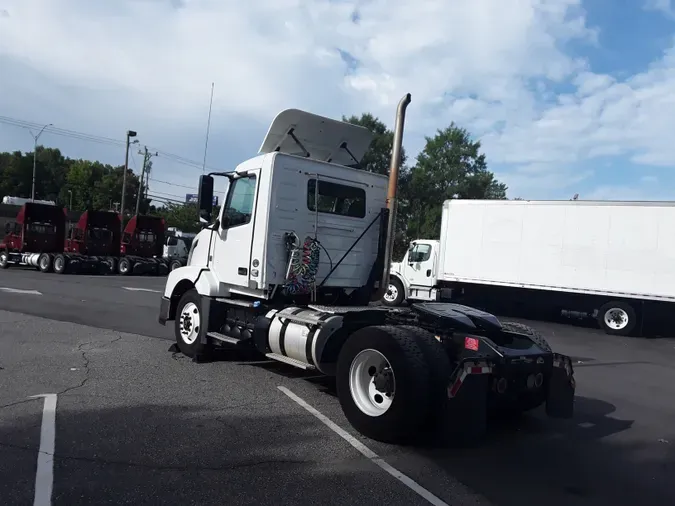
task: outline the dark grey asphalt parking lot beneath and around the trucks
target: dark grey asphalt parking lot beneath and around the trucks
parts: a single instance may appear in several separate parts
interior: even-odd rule
[[[53,453],[58,505],[429,504],[420,490],[449,505],[675,504],[675,340],[530,322],[575,359],[574,420],[534,412],[495,421],[477,448],[403,448],[354,433],[323,378],[170,353],[163,284],[0,272],[0,503],[45,494]],[[53,434],[42,394],[57,394]]]

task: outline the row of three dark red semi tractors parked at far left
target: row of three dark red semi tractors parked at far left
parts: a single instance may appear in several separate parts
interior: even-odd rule
[[[19,265],[57,274],[168,273],[162,218],[136,215],[122,230],[120,216],[112,211],[85,211],[71,226],[66,215],[56,205],[24,203],[15,221],[5,226],[0,268]]]

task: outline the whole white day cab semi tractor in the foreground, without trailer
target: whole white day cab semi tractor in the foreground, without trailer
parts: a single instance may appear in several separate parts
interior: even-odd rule
[[[359,168],[369,130],[296,109],[277,115],[258,156],[201,176],[204,228],[161,299],[172,351],[199,362],[215,346],[248,348],[334,376],[349,423],[391,443],[480,437],[493,409],[572,416],[571,361],[535,330],[458,304],[371,305],[389,282],[409,102],[389,179]],[[216,217],[214,176],[228,183]]]

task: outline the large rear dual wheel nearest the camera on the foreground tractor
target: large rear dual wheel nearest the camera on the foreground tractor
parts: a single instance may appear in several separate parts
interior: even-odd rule
[[[415,335],[393,326],[354,332],[338,356],[342,410],[361,434],[385,443],[419,437],[428,418],[431,379]]]

